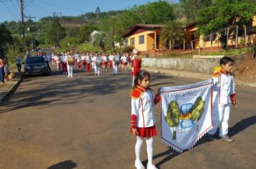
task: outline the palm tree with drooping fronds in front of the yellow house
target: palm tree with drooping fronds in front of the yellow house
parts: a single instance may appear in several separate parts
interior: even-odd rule
[[[160,43],[169,42],[170,49],[173,49],[175,42],[183,42],[185,40],[185,31],[180,21],[170,21],[166,24],[160,34]]]

